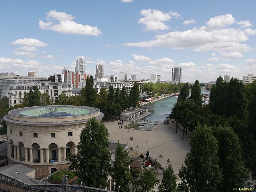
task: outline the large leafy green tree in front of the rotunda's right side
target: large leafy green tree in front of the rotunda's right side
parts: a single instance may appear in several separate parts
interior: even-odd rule
[[[95,118],[91,118],[82,130],[78,153],[69,156],[79,183],[83,181],[85,186],[103,189],[107,186],[107,176],[111,171],[108,136],[108,129]]]

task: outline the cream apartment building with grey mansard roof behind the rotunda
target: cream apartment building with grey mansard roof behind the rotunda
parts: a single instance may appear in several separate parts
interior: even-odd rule
[[[47,93],[50,96],[51,103],[55,103],[58,96],[64,93],[66,96],[72,95],[71,84],[56,82],[29,82],[17,83],[9,87],[8,98],[9,106],[19,105],[23,102],[25,93],[28,93],[33,86],[37,86],[39,92]]]

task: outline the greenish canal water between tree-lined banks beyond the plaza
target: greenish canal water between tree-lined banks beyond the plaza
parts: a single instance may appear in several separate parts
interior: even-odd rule
[[[174,104],[177,102],[178,97],[167,97],[159,101],[154,101],[143,105],[143,108],[148,108],[151,115],[144,117],[144,120],[165,121],[165,118],[170,114]]]

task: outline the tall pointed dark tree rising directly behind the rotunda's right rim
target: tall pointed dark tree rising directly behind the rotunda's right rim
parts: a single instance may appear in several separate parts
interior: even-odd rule
[[[84,106],[94,107],[97,92],[94,89],[93,76],[87,77],[86,86],[82,88],[81,95],[84,99]]]

